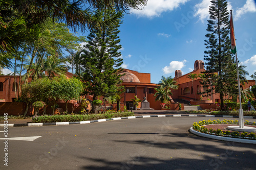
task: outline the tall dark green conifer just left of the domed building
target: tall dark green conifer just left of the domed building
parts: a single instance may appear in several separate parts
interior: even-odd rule
[[[122,12],[105,10],[102,20],[115,18],[115,26],[102,27],[100,30],[92,30],[89,34],[88,44],[81,51],[81,67],[83,69],[83,81],[86,83],[86,93],[97,96],[112,95],[121,84],[118,71],[121,70],[122,59],[118,50],[121,48],[120,39],[117,35],[118,27],[122,23]],[[93,111],[95,107],[93,106]]]

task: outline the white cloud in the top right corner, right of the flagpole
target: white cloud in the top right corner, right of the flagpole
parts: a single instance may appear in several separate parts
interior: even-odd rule
[[[238,20],[241,15],[246,14],[248,12],[256,12],[256,5],[253,0],[247,0],[245,5],[242,8],[237,9],[234,20]]]

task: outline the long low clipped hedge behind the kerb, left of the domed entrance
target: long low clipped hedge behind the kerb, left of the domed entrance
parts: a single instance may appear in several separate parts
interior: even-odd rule
[[[98,120],[98,119],[108,119],[113,117],[127,117],[134,116],[133,112],[117,112],[117,113],[104,113],[104,114],[88,114],[88,115],[42,115],[33,116],[33,123],[51,123],[51,122],[81,122],[87,120]]]

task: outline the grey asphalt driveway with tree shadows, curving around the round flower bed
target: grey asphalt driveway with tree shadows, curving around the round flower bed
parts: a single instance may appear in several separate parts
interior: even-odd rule
[[[255,169],[256,145],[188,132],[194,122],[203,119],[208,118],[155,117],[9,127],[8,166],[1,161],[0,169]],[[3,138],[3,132],[0,134]],[[28,136],[41,137],[12,140]],[[0,142],[3,160],[4,141]]]

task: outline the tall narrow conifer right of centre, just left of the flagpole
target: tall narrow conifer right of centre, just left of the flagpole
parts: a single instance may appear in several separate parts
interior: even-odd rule
[[[220,94],[221,109],[225,95],[237,93],[236,64],[230,51],[229,16],[226,0],[213,0],[209,7],[210,18],[208,20],[205,40],[206,51],[204,60],[206,71],[204,87],[209,93]]]

